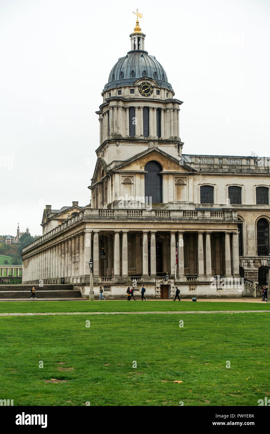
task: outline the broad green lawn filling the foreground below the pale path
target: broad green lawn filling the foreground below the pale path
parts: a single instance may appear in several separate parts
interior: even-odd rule
[[[30,303],[33,311],[43,303],[59,311],[63,304]],[[72,302],[64,302],[68,311],[65,303]],[[78,305],[91,310],[106,303],[120,310],[127,302]],[[206,310],[208,303],[198,304]],[[161,302],[149,302],[157,305],[162,310]],[[253,406],[270,395],[268,313],[7,316],[0,329],[0,397],[14,405]]]

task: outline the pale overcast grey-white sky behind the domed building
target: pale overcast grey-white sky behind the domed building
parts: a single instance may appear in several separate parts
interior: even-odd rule
[[[95,111],[137,7],[145,49],[184,102],[183,152],[270,155],[267,0],[1,0],[0,234],[17,222],[41,234],[46,204],[89,203]]]

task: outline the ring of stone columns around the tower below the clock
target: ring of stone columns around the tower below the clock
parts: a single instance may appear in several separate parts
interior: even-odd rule
[[[160,109],[161,138],[179,137],[179,111],[176,107],[166,109],[149,106],[149,136],[157,138],[156,110]],[[130,137],[130,106],[110,105],[102,112],[100,122],[100,144],[113,135]],[[143,105],[135,106],[135,137],[143,136]]]

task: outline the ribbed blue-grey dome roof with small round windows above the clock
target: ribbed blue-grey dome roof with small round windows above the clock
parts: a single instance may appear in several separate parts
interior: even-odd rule
[[[167,89],[172,89],[168,83],[163,66],[146,51],[130,51],[127,56],[120,57],[110,72],[109,81],[104,89],[122,85],[133,85],[137,79],[148,77]]]

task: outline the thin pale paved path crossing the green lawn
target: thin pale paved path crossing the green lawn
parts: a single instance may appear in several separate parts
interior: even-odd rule
[[[152,313],[257,313],[270,312],[270,310],[174,310],[160,312],[36,312],[36,313],[0,313],[0,316],[29,316],[29,315],[145,315]]]

